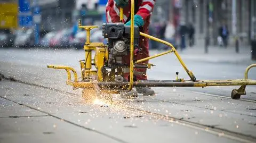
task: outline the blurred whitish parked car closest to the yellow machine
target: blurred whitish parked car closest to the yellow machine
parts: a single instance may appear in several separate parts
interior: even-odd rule
[[[79,31],[73,39],[70,39],[69,44],[75,48],[83,48],[86,41],[86,31]]]

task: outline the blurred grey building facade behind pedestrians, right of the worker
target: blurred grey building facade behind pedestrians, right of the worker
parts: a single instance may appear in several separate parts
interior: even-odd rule
[[[226,23],[230,36],[239,36],[249,44],[255,38],[256,1],[254,0],[161,0],[154,8],[154,21],[171,20],[175,26],[180,21],[195,26],[195,37],[217,44],[219,27]],[[161,19],[158,19],[161,18]]]

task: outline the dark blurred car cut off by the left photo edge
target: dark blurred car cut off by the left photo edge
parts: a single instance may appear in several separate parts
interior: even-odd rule
[[[0,47],[13,46],[15,35],[10,30],[0,30]]]

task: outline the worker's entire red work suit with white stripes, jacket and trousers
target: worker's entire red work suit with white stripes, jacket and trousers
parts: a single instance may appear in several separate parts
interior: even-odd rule
[[[144,25],[142,28],[140,28],[141,32],[148,33],[148,26],[149,26],[149,20],[150,15],[152,14],[153,7],[155,4],[155,0],[138,0],[137,6],[139,7],[139,10],[137,13],[142,17],[144,20]],[[131,1],[129,0],[129,5],[124,7],[124,21],[129,18],[131,11]],[[106,5],[106,19],[107,22],[120,22],[120,9],[118,6],[116,6],[116,2],[114,0],[108,0],[108,3]],[[140,51],[134,59],[140,60],[142,58],[149,57],[149,46],[148,46],[148,38],[145,38],[143,36],[140,36],[140,48],[142,48],[142,51]],[[130,55],[124,56],[122,58],[123,63],[129,64],[130,63]],[[143,63],[148,63],[148,61],[145,61]],[[124,71],[124,77],[125,79],[129,79],[129,72],[130,70]],[[137,72],[137,73],[136,73]],[[138,74],[142,73],[142,75]],[[147,80],[146,75],[146,69],[134,69],[134,74],[136,75],[138,80]]]

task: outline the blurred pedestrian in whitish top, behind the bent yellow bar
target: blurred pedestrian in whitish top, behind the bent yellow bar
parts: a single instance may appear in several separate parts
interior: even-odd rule
[[[175,28],[172,21],[166,24],[164,38],[167,42],[171,43],[175,47]],[[164,49],[170,48],[165,46]]]

